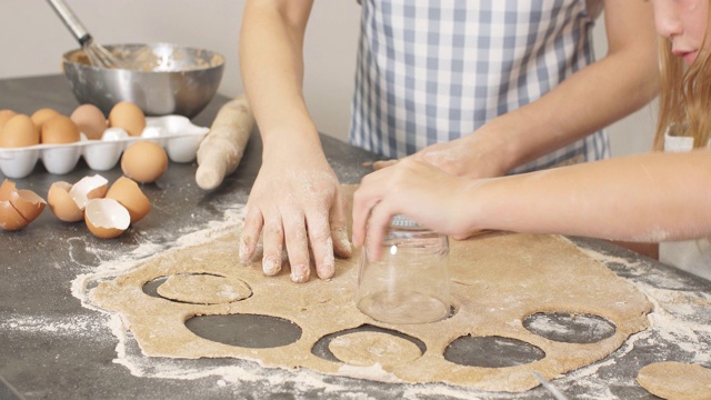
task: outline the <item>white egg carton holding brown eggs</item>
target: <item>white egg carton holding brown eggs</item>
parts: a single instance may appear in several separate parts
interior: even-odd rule
[[[101,140],[81,140],[66,144],[37,144],[23,148],[0,148],[0,171],[7,178],[29,176],[38,160],[50,173],[71,172],[83,157],[89,168],[108,171],[119,162],[123,150],[134,141],[152,140],[163,147],[173,162],[192,162],[200,141],[210,131],[183,116],[147,117],[140,137],[131,137],[122,128],[107,129]]]

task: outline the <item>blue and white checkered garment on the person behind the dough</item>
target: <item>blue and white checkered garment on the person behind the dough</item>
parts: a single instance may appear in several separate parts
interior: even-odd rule
[[[600,10],[598,0],[362,0],[350,142],[400,158],[537,100],[594,61]],[[599,131],[513,172],[609,152]]]

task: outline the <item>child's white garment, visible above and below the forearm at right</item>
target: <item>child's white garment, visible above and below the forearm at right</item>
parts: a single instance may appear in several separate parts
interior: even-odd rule
[[[664,151],[691,151],[693,138],[664,134]],[[659,260],[711,280],[711,238],[659,243]]]

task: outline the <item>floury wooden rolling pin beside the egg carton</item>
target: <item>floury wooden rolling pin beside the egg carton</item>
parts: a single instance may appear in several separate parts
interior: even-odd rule
[[[200,188],[214,189],[237,170],[253,129],[254,117],[247,96],[240,94],[220,108],[198,148],[196,182]]]

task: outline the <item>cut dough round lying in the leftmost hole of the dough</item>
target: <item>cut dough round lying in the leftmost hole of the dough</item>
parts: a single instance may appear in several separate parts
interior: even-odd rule
[[[252,296],[244,281],[210,273],[180,273],[170,276],[156,288],[168,300],[191,304],[224,304]]]

